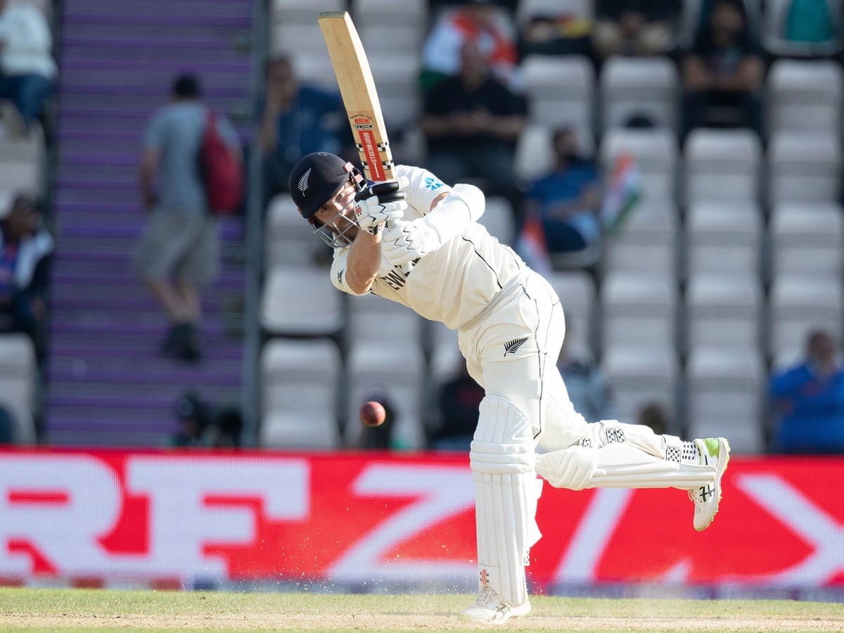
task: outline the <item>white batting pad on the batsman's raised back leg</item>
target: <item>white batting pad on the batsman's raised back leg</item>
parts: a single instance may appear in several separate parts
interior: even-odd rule
[[[539,455],[536,470],[555,488],[679,488],[692,490],[715,478],[715,468],[667,461],[630,444],[571,446]]]

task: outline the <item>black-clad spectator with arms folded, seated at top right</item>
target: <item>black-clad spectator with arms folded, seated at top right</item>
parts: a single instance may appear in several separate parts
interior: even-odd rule
[[[764,68],[739,0],[712,4],[681,68],[684,137],[695,127],[750,127],[761,135]]]

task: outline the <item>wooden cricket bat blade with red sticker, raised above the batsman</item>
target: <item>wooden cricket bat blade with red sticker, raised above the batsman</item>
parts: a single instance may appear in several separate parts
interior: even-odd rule
[[[324,11],[318,22],[366,177],[372,181],[390,180],[395,177],[392,150],[360,35],[347,11]]]

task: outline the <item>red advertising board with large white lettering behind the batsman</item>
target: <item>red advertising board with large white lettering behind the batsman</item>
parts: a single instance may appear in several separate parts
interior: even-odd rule
[[[537,591],[565,583],[844,587],[842,458],[734,457],[721,511],[682,490],[545,484]],[[468,457],[0,452],[0,579],[471,579]]]

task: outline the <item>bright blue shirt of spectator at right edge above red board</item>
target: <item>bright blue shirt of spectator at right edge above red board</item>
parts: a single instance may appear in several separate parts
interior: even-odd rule
[[[844,371],[819,377],[798,365],[771,379],[771,397],[782,410],[775,451],[844,453]]]

